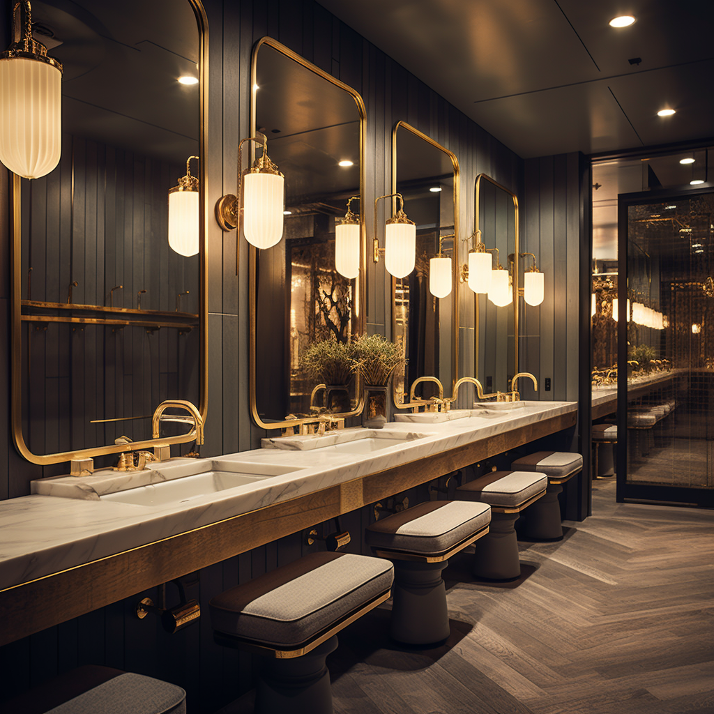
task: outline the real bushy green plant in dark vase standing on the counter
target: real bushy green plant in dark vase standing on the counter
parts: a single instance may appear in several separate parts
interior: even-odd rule
[[[380,429],[391,416],[388,385],[392,373],[405,363],[401,346],[381,335],[361,335],[352,348],[353,370],[361,376],[365,390],[362,424]]]

